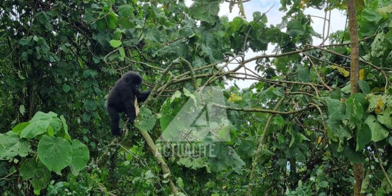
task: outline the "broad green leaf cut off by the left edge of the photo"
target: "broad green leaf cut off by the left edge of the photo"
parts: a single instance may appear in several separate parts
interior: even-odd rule
[[[31,151],[30,143],[20,139],[17,133],[0,134],[0,160],[12,160],[14,156],[25,157]]]

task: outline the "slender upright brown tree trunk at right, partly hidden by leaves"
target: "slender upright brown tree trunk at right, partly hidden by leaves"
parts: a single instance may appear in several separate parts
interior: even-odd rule
[[[350,84],[351,94],[358,92],[359,78],[359,42],[358,42],[358,25],[355,0],[347,0],[348,26],[350,30]],[[362,163],[353,164],[354,171],[354,196],[361,196],[361,186],[364,179],[364,165]]]

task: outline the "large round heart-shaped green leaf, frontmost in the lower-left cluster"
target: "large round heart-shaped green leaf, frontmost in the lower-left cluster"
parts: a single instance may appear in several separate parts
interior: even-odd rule
[[[38,157],[50,171],[61,174],[72,161],[71,144],[63,138],[44,135],[38,143]]]

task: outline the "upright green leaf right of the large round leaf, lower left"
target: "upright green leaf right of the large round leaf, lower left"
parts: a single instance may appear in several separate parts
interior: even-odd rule
[[[72,162],[71,171],[73,175],[77,175],[90,159],[89,148],[81,143],[79,140],[72,141]]]

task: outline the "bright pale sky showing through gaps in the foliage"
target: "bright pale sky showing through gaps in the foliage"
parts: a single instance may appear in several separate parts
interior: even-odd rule
[[[192,0],[185,0],[185,3],[190,6],[192,4]],[[273,6],[273,7],[272,7]],[[253,12],[260,12],[260,13],[265,13],[267,10],[271,10],[266,14],[268,18],[268,24],[269,25],[277,25],[282,21],[282,17],[284,16],[283,12],[279,11],[279,8],[281,7],[280,5],[280,0],[250,0],[248,2],[244,3],[244,9],[245,9],[245,15],[246,15],[246,20],[247,21],[252,21],[253,17],[252,14]],[[324,11],[314,9],[314,8],[307,8],[304,12],[305,14],[309,14],[311,16],[319,16],[319,17],[324,17]],[[234,17],[239,16],[239,8],[237,5],[233,7],[232,12],[230,13],[229,11],[229,3],[224,2],[220,6],[220,16],[227,16],[229,20],[233,20]],[[322,29],[323,29],[323,19],[317,18],[317,17],[312,17],[313,23],[313,29],[322,34]],[[345,25],[345,20],[346,16],[345,13],[339,10],[332,10],[331,12],[331,25],[330,25],[330,33],[335,32],[337,30],[343,30],[344,25]],[[326,31],[325,31],[326,34]],[[319,45],[322,42],[321,39],[319,38],[313,38],[313,45]],[[326,42],[328,44],[328,41]],[[268,50],[266,51],[267,54],[271,54],[272,50],[274,49],[273,46],[269,46]],[[245,59],[251,58],[256,55],[260,55],[261,52],[253,52],[251,49],[245,53]],[[229,65],[229,68],[234,68],[237,65]],[[254,70],[255,63],[249,63],[246,65],[247,68]],[[240,70],[239,72],[244,72],[243,70]],[[239,86],[240,88],[248,88],[255,80],[235,80],[229,82],[229,86],[233,85],[234,82]]]

